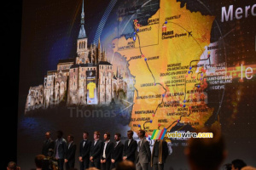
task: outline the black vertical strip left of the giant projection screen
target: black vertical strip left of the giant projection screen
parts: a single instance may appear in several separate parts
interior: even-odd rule
[[[22,1],[3,1],[1,11],[1,32],[3,37],[1,41],[1,145],[6,151],[4,151],[0,168],[6,169],[9,161],[17,161],[16,141]]]

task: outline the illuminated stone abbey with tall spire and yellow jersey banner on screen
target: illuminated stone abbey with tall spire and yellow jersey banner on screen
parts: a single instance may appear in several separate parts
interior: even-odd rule
[[[57,70],[47,72],[44,85],[29,88],[25,113],[62,101],[66,105],[106,105],[113,100],[114,91],[127,92],[127,83],[118,69],[113,71],[100,40],[97,45],[88,45],[87,40],[83,1],[77,57],[60,59]]]

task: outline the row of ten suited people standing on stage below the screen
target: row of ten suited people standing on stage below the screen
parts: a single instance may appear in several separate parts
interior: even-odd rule
[[[154,147],[151,153],[148,140],[145,139],[145,131],[139,130],[138,137],[140,141],[133,139],[133,131],[127,131],[127,140],[123,144],[120,133],[114,134],[114,142],[110,140],[110,133],[104,133],[102,141],[100,133],[94,132],[94,141],[88,139],[89,133],[83,133],[83,140],[79,144],[79,166],[80,170],[89,167],[97,169],[110,170],[116,168],[120,161],[131,161],[136,163],[137,170],[148,170],[148,167],[153,167],[154,170],[163,170],[166,157],[168,156],[168,146],[165,140],[157,139],[154,142]],[[57,139],[50,139],[50,132],[45,133],[46,140],[44,141],[42,155],[44,159],[50,160],[51,165],[55,165],[59,170],[63,170],[64,165],[66,170],[74,167],[75,153],[77,145],[73,142],[73,135],[67,135],[63,139],[63,133],[57,131]],[[53,157],[53,153],[55,156]],[[137,153],[137,155],[136,155]]]

